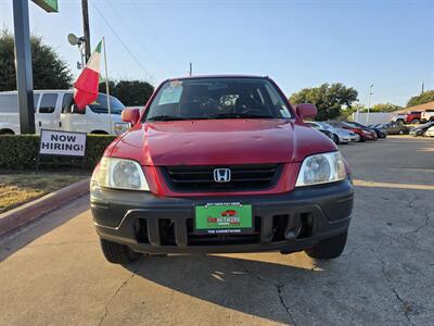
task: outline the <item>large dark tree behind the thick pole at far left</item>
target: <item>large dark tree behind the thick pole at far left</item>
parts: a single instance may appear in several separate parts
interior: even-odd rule
[[[67,89],[73,76],[68,65],[55,50],[42,42],[39,36],[31,36],[31,65],[35,89]],[[0,91],[15,90],[14,37],[4,29],[0,32]]]

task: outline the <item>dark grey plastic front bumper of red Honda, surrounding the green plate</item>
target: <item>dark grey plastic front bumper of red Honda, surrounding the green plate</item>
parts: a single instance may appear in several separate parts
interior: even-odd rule
[[[291,192],[226,197],[155,197],[149,192],[92,187],[97,233],[143,253],[295,252],[346,231],[354,190],[347,180]],[[241,202],[253,205],[254,231],[195,235],[194,205]]]

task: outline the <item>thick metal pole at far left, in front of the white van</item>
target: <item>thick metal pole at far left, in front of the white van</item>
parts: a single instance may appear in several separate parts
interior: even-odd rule
[[[31,72],[28,0],[14,0],[15,71],[18,90],[20,129],[35,134],[34,77]]]

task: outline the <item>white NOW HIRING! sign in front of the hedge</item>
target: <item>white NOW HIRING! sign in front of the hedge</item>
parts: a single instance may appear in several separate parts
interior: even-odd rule
[[[42,129],[39,154],[85,156],[86,134]]]

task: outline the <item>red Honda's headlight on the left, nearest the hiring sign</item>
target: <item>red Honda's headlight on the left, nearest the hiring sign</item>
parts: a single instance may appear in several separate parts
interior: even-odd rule
[[[132,160],[102,158],[98,174],[92,178],[101,187],[149,191],[142,167]]]

